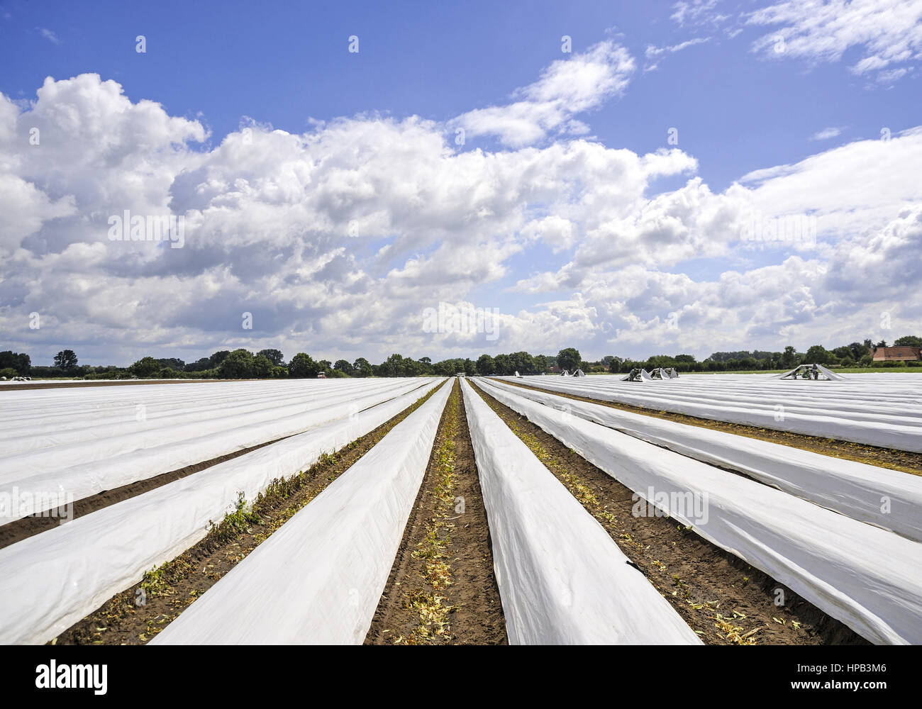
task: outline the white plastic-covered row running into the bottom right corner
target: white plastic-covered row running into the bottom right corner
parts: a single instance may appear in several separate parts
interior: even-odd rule
[[[870,642],[922,643],[922,544],[523,396],[490,394]],[[703,514],[686,514],[689,501]]]

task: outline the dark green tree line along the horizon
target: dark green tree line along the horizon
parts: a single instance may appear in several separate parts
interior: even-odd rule
[[[891,347],[911,346],[922,348],[922,337],[906,336],[893,341]],[[673,367],[679,372],[733,372],[739,370],[793,369],[798,364],[818,363],[843,367],[869,366],[922,366],[922,361],[874,362],[874,350],[888,347],[886,341],[874,344],[870,339],[852,342],[834,349],[813,345],[806,352],[792,346],[780,352],[740,350],[714,352],[698,361],[692,355],[655,355],[646,360],[630,360],[607,355],[601,360],[585,361],[575,348],[561,349],[556,355],[532,355],[528,352],[510,354],[482,354],[477,360],[452,358],[437,362],[428,357],[419,360],[392,354],[380,364],[372,364],[364,357],[356,360],[314,360],[306,352],[299,352],[285,362],[279,349],[261,349],[255,354],[248,349],[222,349],[210,357],[194,362],[179,358],[143,357],[128,367],[116,365],[91,366],[78,364],[72,349],[63,349],[54,357],[52,366],[32,365],[28,354],[6,350],[0,352],[0,376],[32,377],[82,377],[84,379],[278,379],[311,378],[323,373],[326,377],[407,377],[452,376],[466,374],[508,375],[540,374],[542,372],[573,372],[582,369],[591,372],[630,372],[632,369],[651,370],[656,367]]]

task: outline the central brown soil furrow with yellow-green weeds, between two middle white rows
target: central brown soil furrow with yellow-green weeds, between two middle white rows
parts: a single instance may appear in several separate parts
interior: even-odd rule
[[[490,527],[455,381],[365,644],[507,643]]]

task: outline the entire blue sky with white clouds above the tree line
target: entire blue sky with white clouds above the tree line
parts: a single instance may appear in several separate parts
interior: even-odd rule
[[[0,3],[0,93],[15,106],[0,116],[8,136],[18,136],[0,143],[6,198],[34,201],[6,225],[0,336],[36,362],[71,346],[89,363],[126,363],[148,352],[191,359],[219,346],[272,342],[289,356],[308,349],[371,359],[571,344],[595,357],[706,356],[880,336],[880,315],[891,312],[908,333],[919,324],[903,299],[886,289],[876,300],[856,297],[843,284],[855,273],[886,278],[869,268],[892,261],[914,238],[904,230],[914,228],[915,213],[906,210],[919,197],[909,183],[918,183],[920,167],[913,132],[922,123],[920,17],[918,2],[884,0],[231,2],[194,11],[173,2]],[[136,53],[137,35],[146,53]],[[358,53],[348,51],[351,35]],[[561,52],[563,35],[572,53]],[[783,51],[775,51],[779,38]],[[594,89],[597,71],[610,79],[608,89]],[[61,84],[37,100],[46,77],[88,74],[99,79]],[[554,76],[565,79],[542,83]],[[103,90],[109,80],[124,92],[120,99]],[[143,101],[160,104],[160,114],[140,110]],[[145,115],[128,130],[120,121],[130,112]],[[164,128],[169,117],[182,124]],[[251,119],[259,154],[233,157],[231,137]],[[528,127],[511,136],[509,120]],[[421,133],[410,129],[420,121]],[[20,152],[39,124],[61,146],[72,131],[71,148],[54,152],[49,138],[42,160]],[[467,130],[463,146],[453,140],[458,126]],[[884,127],[900,149],[886,149],[897,146],[881,141]],[[670,128],[677,143],[668,143]],[[297,148],[284,136],[295,136]],[[434,136],[451,156],[439,159]],[[75,140],[89,140],[89,152],[75,150]],[[364,157],[354,150],[349,158],[349,146],[361,146]],[[301,162],[282,171],[292,149]],[[448,193],[440,214],[427,185],[402,189],[387,174],[388,165],[409,176],[424,168],[443,183],[467,165],[465,153],[482,156],[456,185],[483,198],[476,209],[467,203],[467,213]],[[668,165],[638,167],[650,154]],[[266,160],[276,155],[278,162]],[[363,162],[369,158],[380,159],[380,175]],[[543,177],[528,167],[533,159]],[[585,161],[599,167],[592,177],[573,167]],[[308,178],[322,162],[336,171]],[[502,174],[493,167],[500,164]],[[785,165],[793,167],[779,170]],[[753,171],[767,171],[765,179],[744,180]],[[110,181],[148,183],[116,196]],[[336,194],[327,200],[330,184]],[[349,196],[344,184],[354,188]],[[490,186],[496,193],[484,196]],[[124,208],[160,214],[180,205],[193,207],[187,217],[195,222],[181,255],[112,253],[99,227],[90,228]],[[229,218],[229,205],[246,210],[242,219]],[[740,243],[752,214],[818,216],[817,238]],[[553,236],[550,222],[536,226],[544,218],[565,219],[573,237]],[[249,219],[288,241],[241,226]],[[342,241],[357,222],[361,237]],[[875,241],[875,233],[883,236]],[[281,262],[287,266],[270,266]],[[467,276],[455,267],[462,263]],[[69,288],[49,288],[62,268]],[[136,292],[139,278],[150,279],[144,292]],[[133,312],[94,305],[83,280],[122,292]],[[292,287],[283,298],[279,282]],[[211,284],[221,284],[220,297]],[[145,313],[156,300],[149,291],[160,289],[188,295],[170,314]],[[762,296],[747,301],[740,292]],[[79,300],[79,293],[85,307],[52,313],[56,298]],[[198,314],[203,298],[227,303],[228,313],[207,323]],[[242,332],[230,314],[235,300],[271,314]],[[420,309],[443,302],[498,309],[502,337],[420,332]],[[23,330],[26,315],[42,310],[49,325]],[[669,313],[682,313],[684,325],[664,325]]]

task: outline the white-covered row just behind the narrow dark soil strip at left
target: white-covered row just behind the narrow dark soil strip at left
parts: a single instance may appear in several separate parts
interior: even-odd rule
[[[401,379],[393,384],[352,390],[349,396],[327,394],[294,406],[278,409],[278,417],[252,420],[254,414],[232,417],[233,428],[224,419],[203,420],[194,426],[178,424],[148,431],[143,436],[124,434],[104,441],[91,441],[41,449],[3,459],[0,492],[9,492],[18,504],[0,505],[0,525],[27,514],[57,507],[63,491],[81,500],[103,490],[113,490],[137,480],[153,478],[181,467],[249,448],[260,443],[301,433],[328,421],[341,419],[399,396],[419,386],[419,379]],[[287,414],[287,415],[286,415]],[[260,413],[260,418],[265,415]],[[190,432],[195,437],[189,438]],[[177,440],[179,437],[179,440]],[[148,447],[143,447],[148,446]],[[107,457],[73,462],[74,449],[98,447]],[[13,492],[16,492],[13,495]]]

